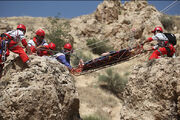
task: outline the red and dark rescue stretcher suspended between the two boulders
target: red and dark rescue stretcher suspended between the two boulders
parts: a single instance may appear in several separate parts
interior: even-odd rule
[[[122,49],[120,51],[112,51],[106,56],[101,56],[96,59],[85,62],[75,68],[72,72],[74,75],[82,75],[88,72],[94,72],[107,66],[112,66],[120,62],[128,61],[136,55],[143,52],[143,44],[137,45],[134,48]]]

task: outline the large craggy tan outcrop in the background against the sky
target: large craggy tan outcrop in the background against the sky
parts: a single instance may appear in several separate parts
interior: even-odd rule
[[[127,48],[132,37],[135,43],[152,36],[154,27],[162,26],[160,15],[147,1],[121,4],[120,0],[105,0],[94,13],[71,19],[71,35],[77,44],[86,43],[90,38],[109,39],[114,49]]]

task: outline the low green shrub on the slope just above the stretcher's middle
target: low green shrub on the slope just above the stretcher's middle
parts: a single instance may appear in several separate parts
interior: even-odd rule
[[[105,44],[105,42],[99,42],[99,40],[97,40],[95,38],[88,39],[86,45],[89,48],[91,48],[91,50],[94,54],[98,54],[98,55],[101,55],[104,52],[108,52],[108,51],[112,50],[112,47],[107,46]]]

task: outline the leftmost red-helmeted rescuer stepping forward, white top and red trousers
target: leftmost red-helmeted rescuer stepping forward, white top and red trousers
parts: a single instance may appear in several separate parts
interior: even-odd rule
[[[24,52],[23,48],[20,45],[18,45],[18,43],[21,42],[25,48],[27,47],[27,42],[24,37],[25,33],[26,33],[26,26],[20,24],[17,26],[16,30],[9,31],[4,34],[7,35],[9,38],[8,49],[16,54],[19,54],[23,63],[29,63],[30,62],[29,57]]]

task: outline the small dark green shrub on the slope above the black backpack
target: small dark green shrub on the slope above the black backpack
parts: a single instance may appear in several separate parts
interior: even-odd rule
[[[161,21],[163,27],[166,30],[173,30],[173,28],[174,28],[174,21],[173,21],[172,17],[167,16],[167,15],[163,15],[160,18],[160,21]]]

